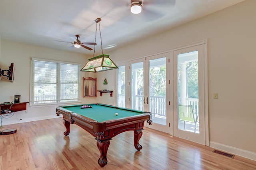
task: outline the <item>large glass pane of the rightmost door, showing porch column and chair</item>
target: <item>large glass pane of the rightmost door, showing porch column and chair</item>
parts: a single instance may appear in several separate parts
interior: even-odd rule
[[[199,133],[198,51],[178,54],[178,128]]]

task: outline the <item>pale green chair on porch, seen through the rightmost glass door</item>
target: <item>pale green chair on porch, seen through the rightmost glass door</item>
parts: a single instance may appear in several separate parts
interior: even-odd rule
[[[179,105],[179,121],[183,121],[184,130],[186,130],[185,122],[190,122],[195,124],[194,132],[196,132],[196,125],[198,122],[198,115],[194,114],[191,105]]]

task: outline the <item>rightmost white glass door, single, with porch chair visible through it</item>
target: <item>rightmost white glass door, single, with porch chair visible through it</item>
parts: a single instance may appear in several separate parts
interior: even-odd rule
[[[173,51],[174,136],[206,144],[204,45]]]

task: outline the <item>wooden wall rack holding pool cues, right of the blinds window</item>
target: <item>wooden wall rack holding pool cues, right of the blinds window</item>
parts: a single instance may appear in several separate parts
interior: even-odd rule
[[[83,77],[83,97],[97,97],[97,78]]]

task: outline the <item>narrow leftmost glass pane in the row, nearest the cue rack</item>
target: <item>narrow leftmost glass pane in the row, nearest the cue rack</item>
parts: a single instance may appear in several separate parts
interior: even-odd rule
[[[118,67],[117,106],[125,107],[125,65]]]

